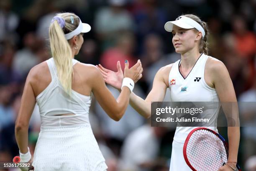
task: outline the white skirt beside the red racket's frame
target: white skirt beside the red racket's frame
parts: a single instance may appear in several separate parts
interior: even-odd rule
[[[170,171],[192,171],[183,156],[183,145],[184,143],[178,143],[173,140],[172,142],[172,157]]]

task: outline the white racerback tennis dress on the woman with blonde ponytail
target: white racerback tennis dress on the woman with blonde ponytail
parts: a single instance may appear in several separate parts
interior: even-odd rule
[[[73,59],[73,66],[77,62]],[[57,77],[54,59],[47,64],[52,81],[36,97],[41,131],[32,163],[34,171],[105,171],[108,167],[89,122],[91,97],[72,90],[69,98]],[[68,113],[75,115],[60,116]]]

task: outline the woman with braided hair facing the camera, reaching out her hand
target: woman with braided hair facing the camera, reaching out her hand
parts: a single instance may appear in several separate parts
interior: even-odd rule
[[[196,15],[181,15],[164,26],[172,32],[172,43],[181,59],[159,69],[153,87],[145,100],[131,93],[130,105],[142,116],[151,115],[151,102],[161,102],[166,89],[171,92],[172,102],[236,102],[236,94],[225,65],[207,52],[207,24]],[[118,72],[99,65],[105,82],[120,89],[123,72],[118,64]],[[212,115],[218,116],[218,107]],[[217,124],[216,124],[217,125]],[[172,144],[170,171],[191,171],[184,160],[183,145],[194,127],[177,127]],[[216,127],[212,130],[217,131]],[[237,163],[240,128],[228,127],[229,156],[228,164],[219,171],[233,171]]]

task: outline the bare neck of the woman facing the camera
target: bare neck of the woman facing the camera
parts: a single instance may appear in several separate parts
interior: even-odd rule
[[[198,48],[193,48],[190,51],[181,54],[181,66],[185,69],[190,69],[193,67],[197,59],[201,56],[198,51]]]

